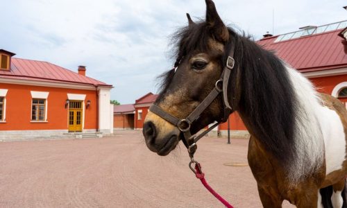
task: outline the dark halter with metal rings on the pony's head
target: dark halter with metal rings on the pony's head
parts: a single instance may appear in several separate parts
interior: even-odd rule
[[[226,60],[226,66],[223,69],[223,72],[221,73],[221,78],[217,80],[214,89],[212,89],[212,92],[208,94],[208,96],[205,97],[205,99],[196,107],[196,109],[187,116],[185,119],[178,119],[176,116],[173,116],[169,114],[168,112],[165,112],[160,108],[158,105],[151,105],[149,110],[153,112],[154,114],[157,114],[165,121],[171,123],[172,125],[175,125],[180,132],[183,133],[183,136],[185,137],[185,140],[183,140],[183,143],[188,149],[189,157],[191,158],[191,162],[189,164],[189,167],[192,169],[194,173],[196,171],[194,168],[192,168],[192,164],[196,164],[196,161],[194,160],[194,153],[197,148],[196,142],[201,139],[201,137],[205,136],[208,132],[210,132],[212,129],[214,129],[219,123],[224,123],[228,120],[228,116],[232,113],[232,107],[230,107],[229,101],[228,101],[228,83],[230,78],[230,73],[232,69],[235,66],[235,59],[234,57],[234,51],[235,51],[235,45],[232,45],[232,48],[230,49],[230,52],[228,54],[228,59]],[[176,62],[179,64],[179,62]],[[177,65],[178,65],[177,64]],[[175,67],[176,64],[175,64]],[[222,86],[221,86],[222,85]],[[223,92],[223,118],[220,119],[217,123],[214,123],[210,128],[202,132],[200,135],[192,135],[190,132],[190,126],[191,124],[198,119],[198,117],[203,113],[203,111],[217,98],[217,96]]]

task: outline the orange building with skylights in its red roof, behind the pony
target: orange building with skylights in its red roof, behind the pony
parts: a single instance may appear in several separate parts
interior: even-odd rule
[[[285,60],[303,73],[319,92],[330,94],[347,107],[347,21],[323,26],[307,26],[293,33],[264,35],[257,44]],[[227,135],[228,125],[219,125],[220,135]],[[237,114],[230,115],[230,134],[247,135]]]

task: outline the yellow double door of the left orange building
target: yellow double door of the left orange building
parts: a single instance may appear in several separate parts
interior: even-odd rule
[[[69,132],[82,131],[82,112],[81,101],[69,102]]]

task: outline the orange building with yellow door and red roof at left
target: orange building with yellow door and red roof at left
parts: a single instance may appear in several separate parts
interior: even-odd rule
[[[85,76],[83,66],[75,73],[13,55],[0,50],[0,140],[112,133],[112,85]]]

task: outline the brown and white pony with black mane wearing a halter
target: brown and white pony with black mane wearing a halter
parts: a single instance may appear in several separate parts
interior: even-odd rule
[[[288,200],[297,207],[342,207],[346,107],[317,93],[271,51],[226,27],[212,1],[206,5],[205,21],[194,23],[187,15],[189,26],[176,33],[178,68],[162,76],[155,105],[186,118],[214,89],[235,47],[228,101],[251,133],[248,163],[262,205],[281,207]],[[192,134],[223,116],[222,99],[220,94],[192,123]],[[148,148],[158,155],[168,155],[183,139],[176,126],[153,112],[146,116],[143,133]]]

